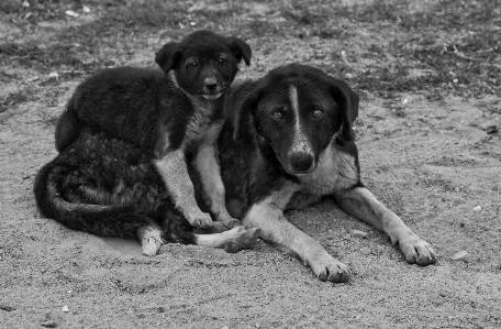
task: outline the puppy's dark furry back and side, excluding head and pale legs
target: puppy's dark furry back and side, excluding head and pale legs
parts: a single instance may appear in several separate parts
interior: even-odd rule
[[[179,143],[192,113],[189,99],[162,72],[103,69],[78,86],[68,101],[56,128],[56,147],[59,152],[65,150],[85,124],[133,144],[154,147],[160,127],[167,123],[172,136],[180,138]]]

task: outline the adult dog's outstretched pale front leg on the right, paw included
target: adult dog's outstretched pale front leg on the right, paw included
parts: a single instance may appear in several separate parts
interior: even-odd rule
[[[400,217],[385,207],[367,188],[342,190],[335,193],[334,198],[346,213],[386,232],[393,244],[399,244],[409,263],[424,266],[436,262],[430,244],[412,232]]]

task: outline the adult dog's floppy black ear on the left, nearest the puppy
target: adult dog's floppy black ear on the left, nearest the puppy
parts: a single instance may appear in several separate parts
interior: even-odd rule
[[[226,97],[225,118],[233,123],[233,140],[236,142],[241,136],[241,130],[245,125],[242,118],[252,113],[253,108],[263,96],[263,88],[258,81],[246,81],[238,86],[232,86]]]

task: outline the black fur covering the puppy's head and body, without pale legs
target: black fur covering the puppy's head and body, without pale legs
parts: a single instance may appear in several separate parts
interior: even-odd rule
[[[233,56],[232,56],[233,55]],[[176,149],[183,140],[193,107],[185,95],[224,92],[244,58],[250,63],[250,47],[240,39],[197,31],[180,43],[169,43],[156,54],[164,70],[120,67],[103,69],[77,87],[56,127],[56,149],[63,152],[86,124],[99,127],[135,145],[154,147],[163,156],[165,140]],[[220,57],[224,63],[219,64]],[[194,61],[196,68],[188,63]],[[180,90],[168,76],[174,72]],[[214,90],[203,85],[216,84]],[[224,95],[223,95],[224,96]],[[224,97],[214,100],[222,109]],[[222,118],[222,112],[214,113]]]

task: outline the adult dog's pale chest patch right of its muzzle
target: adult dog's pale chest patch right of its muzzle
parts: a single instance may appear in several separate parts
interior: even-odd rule
[[[357,184],[359,173],[353,156],[331,145],[321,154],[316,169],[298,178],[304,191],[327,195]]]

